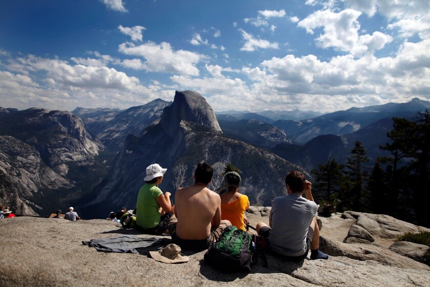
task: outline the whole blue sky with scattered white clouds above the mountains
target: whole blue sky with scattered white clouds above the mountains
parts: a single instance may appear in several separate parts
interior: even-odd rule
[[[430,100],[428,0],[14,0],[0,106],[126,109],[176,90],[215,111]]]

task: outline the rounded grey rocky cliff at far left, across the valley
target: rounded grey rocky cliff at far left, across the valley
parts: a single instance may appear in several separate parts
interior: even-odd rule
[[[33,108],[2,113],[0,135],[1,200],[14,213],[49,214],[58,208],[53,204],[68,197],[67,190],[76,198],[98,181],[90,171],[99,175],[96,157],[103,146],[70,112]]]

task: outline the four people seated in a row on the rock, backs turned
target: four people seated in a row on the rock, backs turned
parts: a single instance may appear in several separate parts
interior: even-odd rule
[[[158,185],[167,169],[155,163],[146,168],[145,185],[137,198],[136,224],[144,233],[161,235],[168,231],[174,243],[185,250],[204,250],[216,241],[230,225],[246,230],[245,210],[248,197],[239,193],[241,177],[238,173],[224,175],[226,193],[219,195],[207,188],[213,169],[199,163],[194,184],[179,188],[175,206],[169,192]],[[271,251],[291,260],[303,260],[311,250],[310,259],[327,259],[319,251],[319,229],[316,222],[317,205],[311,193],[311,182],[303,173],[292,171],[285,178],[288,195],[272,201],[269,226],[256,225],[257,233],[266,238]],[[305,197],[302,197],[305,192]]]

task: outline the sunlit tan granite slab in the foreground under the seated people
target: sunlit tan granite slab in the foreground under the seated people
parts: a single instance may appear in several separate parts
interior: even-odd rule
[[[78,211],[79,212],[79,211]],[[247,214],[250,223],[268,217]],[[204,251],[182,251],[190,260],[166,264],[150,258],[160,247],[138,249],[137,254],[103,253],[82,241],[134,234],[112,221],[94,219],[68,221],[54,218],[15,217],[0,220],[0,281],[14,286],[430,286],[430,268],[411,258],[369,244],[338,242],[324,230],[339,230],[351,219],[321,218],[321,248],[328,260],[292,262],[266,253],[268,267],[261,261],[250,273],[221,273],[203,260]],[[345,226],[346,227],[346,226]],[[417,227],[417,229],[419,229]],[[37,234],[37,236],[35,236]],[[259,258],[260,259],[260,258]]]

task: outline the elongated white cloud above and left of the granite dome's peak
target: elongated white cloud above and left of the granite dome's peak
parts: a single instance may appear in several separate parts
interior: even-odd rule
[[[162,42],[160,45],[148,42],[139,46],[133,43],[123,43],[118,49],[125,55],[140,56],[145,59],[142,68],[150,72],[178,73],[182,75],[198,76],[196,64],[205,56],[185,51],[174,51],[170,44]]]

